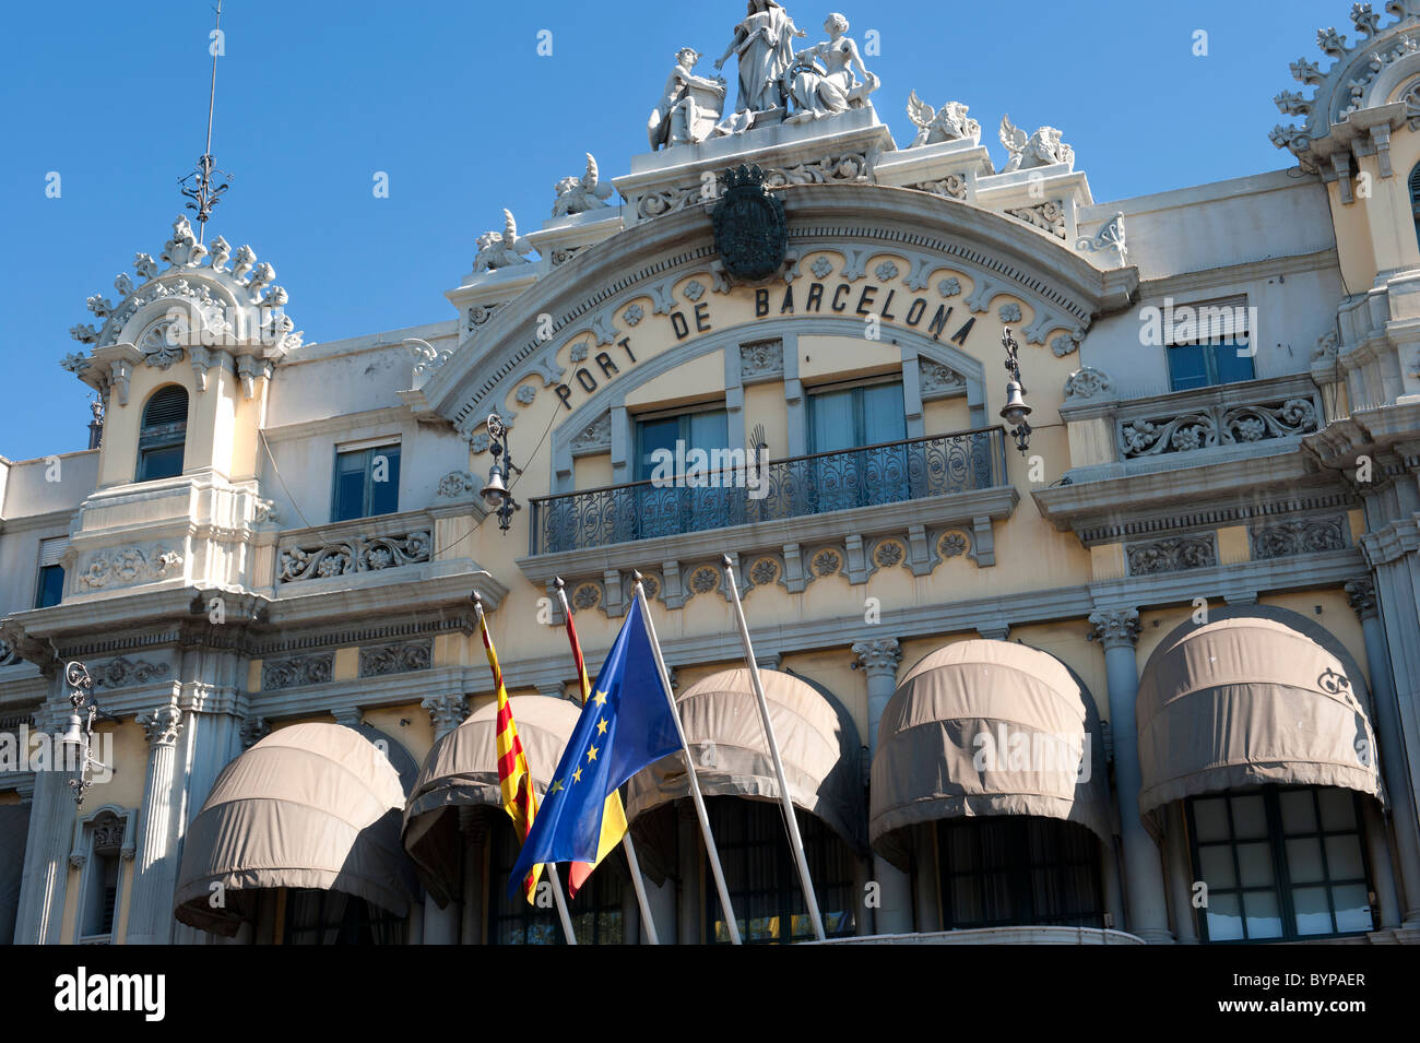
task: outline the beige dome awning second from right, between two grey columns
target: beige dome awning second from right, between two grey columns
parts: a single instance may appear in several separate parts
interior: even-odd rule
[[[883,708],[869,839],[900,868],[913,826],[958,816],[1064,819],[1108,841],[1103,765],[1095,701],[1069,667],[1024,644],[949,644],[912,667]]]

